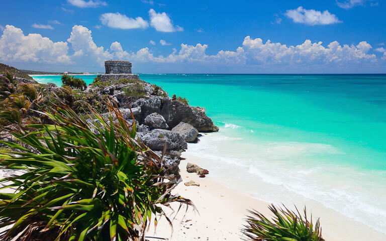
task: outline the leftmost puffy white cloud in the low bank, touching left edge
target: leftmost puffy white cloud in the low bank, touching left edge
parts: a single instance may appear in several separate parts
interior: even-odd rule
[[[67,42],[53,42],[40,34],[24,35],[23,31],[7,25],[0,37],[2,62],[72,63]]]

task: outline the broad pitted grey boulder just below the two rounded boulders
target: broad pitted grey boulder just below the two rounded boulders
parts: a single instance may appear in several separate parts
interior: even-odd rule
[[[153,151],[162,151],[165,145],[166,150],[187,149],[185,139],[181,135],[163,129],[153,129],[151,132],[143,135],[141,140]]]

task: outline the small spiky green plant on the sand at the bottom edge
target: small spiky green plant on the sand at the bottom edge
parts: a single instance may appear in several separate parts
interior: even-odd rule
[[[306,207],[304,216],[296,207],[296,212],[285,206],[277,208],[273,204],[268,208],[273,213],[271,219],[256,210],[249,210],[252,215],[247,217],[247,225],[241,230],[246,236],[244,240],[324,241],[319,218],[314,226],[312,216],[310,220],[307,218]]]

